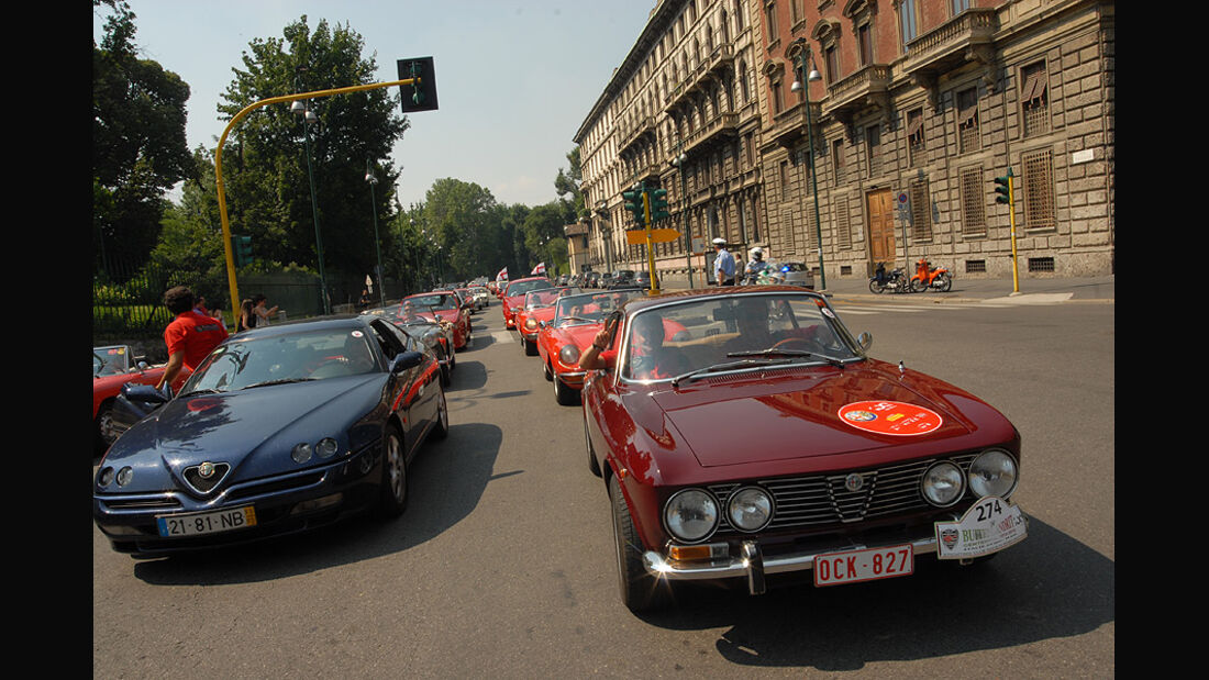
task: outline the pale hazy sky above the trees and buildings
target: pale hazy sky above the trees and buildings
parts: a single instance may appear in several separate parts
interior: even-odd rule
[[[621,64],[655,0],[128,0],[141,58],[190,87],[189,149],[218,145],[221,94],[254,39],[282,37],[303,14],[348,24],[374,58],[376,82],[395,62],[433,57],[439,109],[409,115],[394,146],[407,207],[435,180],[478,184],[502,204],[557,198],[554,180],[580,124]],[[99,42],[108,7],[93,10]],[[392,88],[398,92],[398,88]],[[175,192],[170,198],[179,194]]]

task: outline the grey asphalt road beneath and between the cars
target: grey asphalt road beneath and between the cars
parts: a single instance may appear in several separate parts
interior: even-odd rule
[[[1113,676],[1113,306],[834,303],[875,356],[1013,420],[1024,542],[973,570],[758,598],[699,586],[635,616],[580,408],[555,403],[497,304],[401,518],[156,560],[94,529],[93,676]]]

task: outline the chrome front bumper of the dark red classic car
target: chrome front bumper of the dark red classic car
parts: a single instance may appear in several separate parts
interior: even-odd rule
[[[907,541],[915,556],[936,552],[936,536]],[[896,544],[903,545],[903,544]],[[642,564],[647,573],[670,581],[698,581],[718,579],[747,579],[747,589],[753,595],[765,591],[764,576],[767,574],[788,574],[792,571],[805,571],[815,568],[815,559],[837,552],[838,550],[864,550],[889,547],[881,545],[852,544],[843,548],[829,548],[827,551],[806,551],[798,553],[779,554],[765,557],[756,541],[744,541],[740,545],[740,556],[711,559],[702,562],[676,562],[667,559],[655,551],[647,551],[642,554]]]

